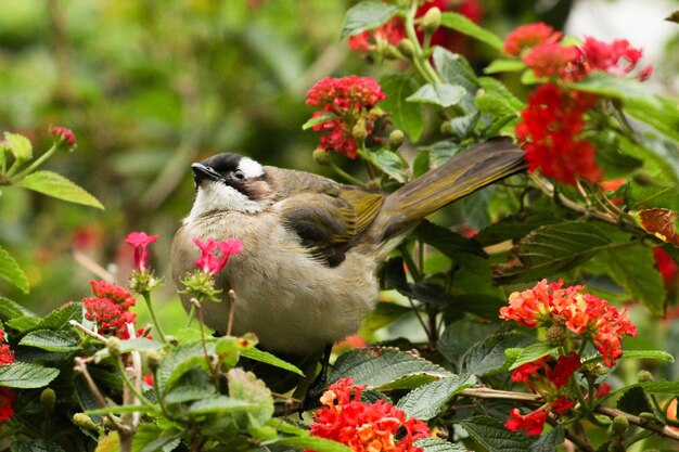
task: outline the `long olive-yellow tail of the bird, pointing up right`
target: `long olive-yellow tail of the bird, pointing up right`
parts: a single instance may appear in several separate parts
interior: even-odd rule
[[[446,164],[390,193],[366,243],[381,244],[376,254],[386,257],[424,217],[526,168],[524,152],[511,139],[495,139],[456,155]]]

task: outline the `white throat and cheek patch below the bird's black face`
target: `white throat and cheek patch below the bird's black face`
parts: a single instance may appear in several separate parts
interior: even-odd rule
[[[232,186],[205,181],[198,186],[191,212],[184,218],[183,223],[191,223],[210,211],[234,210],[243,214],[257,214],[264,210],[264,207]]]

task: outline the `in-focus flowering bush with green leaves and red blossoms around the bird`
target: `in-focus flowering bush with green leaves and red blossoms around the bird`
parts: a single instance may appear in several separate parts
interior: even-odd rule
[[[636,66],[641,54],[629,43],[578,41],[548,28],[520,28],[503,40],[474,17],[438,5],[362,1],[347,11],[341,33],[353,49],[383,63],[385,74],[379,83],[328,78],[309,92],[315,101],[308,104],[319,112],[304,128],[326,133],[313,157],[351,183],[396,190],[498,137],[517,140],[527,153],[528,172],[447,207],[436,218],[445,225],[421,222],[385,262],[380,279],[392,292],[361,334],[376,339],[380,328],[410,322],[421,339],[392,334],[340,354],[320,398],[323,408],[293,421],[298,393],[279,395],[256,366],[246,367],[259,362],[295,377],[305,372],[258,349],[254,335],[213,337],[203,323],[202,304],[219,293],[213,276],[242,244],[196,242],[202,257],[179,287],[193,297],[188,325],[194,326],[169,331],[152,300],[163,285],[148,263],[157,236],[132,233],[129,287],[144,299],[153,326],[136,328],[132,295],[104,283],[91,283],[94,297],[44,315],[1,300],[0,387],[11,389],[0,392],[0,435],[11,439],[10,450],[672,447],[679,440],[678,374],[661,365],[674,362],[676,341],[668,341],[670,352],[643,338],[624,349],[623,336],[639,330],[679,337],[676,324],[658,327],[655,318],[676,315],[679,109],[639,80],[649,73]],[[248,39],[262,57],[277,57],[261,36]],[[472,40],[492,57],[484,76],[460,52]],[[190,70],[203,70],[193,63]],[[302,66],[279,67],[296,104],[303,103],[294,87]],[[187,89],[193,92],[183,92],[180,103],[208,116],[196,127],[204,133],[217,122],[203,98],[207,88]],[[30,140],[5,133],[0,184],[101,208],[65,177],[38,170],[57,151],[75,147],[68,129],[51,132],[53,146],[37,158]],[[190,160],[201,141],[188,139],[190,151],[167,171]],[[164,160],[167,153],[161,155]],[[157,206],[164,190],[153,185],[139,208]],[[22,264],[4,248],[0,276],[22,293],[30,289]],[[652,319],[650,327],[644,319]],[[640,366],[656,375],[642,370],[635,377]],[[351,424],[349,405],[360,410],[360,425]],[[329,419],[340,419],[351,439]],[[423,422],[428,438],[421,438]],[[415,424],[419,439],[402,440]],[[360,443],[366,438],[370,442]]]

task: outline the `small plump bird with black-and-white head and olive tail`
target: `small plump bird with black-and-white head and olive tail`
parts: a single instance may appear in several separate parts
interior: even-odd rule
[[[233,334],[253,332],[272,352],[318,353],[356,333],[377,300],[380,264],[420,220],[524,168],[524,152],[497,139],[381,193],[218,154],[191,166],[196,196],[172,241],[172,279],[180,287],[195,269],[193,237],[240,240],[243,251],[216,275],[225,300],[203,305],[205,323],[226,332],[233,289]]]

